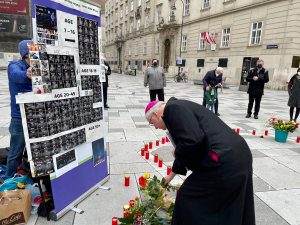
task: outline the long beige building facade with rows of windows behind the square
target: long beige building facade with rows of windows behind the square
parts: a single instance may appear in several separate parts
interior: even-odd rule
[[[245,84],[249,68],[263,59],[270,74],[267,88],[285,89],[299,68],[300,0],[106,0],[105,4],[105,53],[113,69],[144,73],[150,60],[157,58],[167,75],[174,76],[180,46],[181,70],[190,80],[222,66],[226,82]],[[206,43],[203,32],[208,31],[215,33],[216,46]]]

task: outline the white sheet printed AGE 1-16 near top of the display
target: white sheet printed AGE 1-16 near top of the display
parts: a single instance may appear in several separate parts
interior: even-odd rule
[[[57,11],[57,23],[60,45],[78,48],[77,16]]]

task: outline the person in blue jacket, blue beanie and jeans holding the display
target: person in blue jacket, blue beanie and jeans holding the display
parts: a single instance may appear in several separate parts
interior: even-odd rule
[[[33,43],[33,41],[24,40],[19,43],[19,52],[22,59],[10,62],[7,69],[11,101],[11,122],[9,126],[11,137],[4,180],[11,178],[17,171],[18,166],[22,163],[25,147],[20,107],[19,104],[16,104],[15,96],[18,93],[32,91],[28,43]]]

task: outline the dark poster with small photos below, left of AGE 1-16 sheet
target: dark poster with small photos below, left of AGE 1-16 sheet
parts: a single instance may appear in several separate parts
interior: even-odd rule
[[[36,5],[36,24],[38,43],[58,46],[56,10]]]

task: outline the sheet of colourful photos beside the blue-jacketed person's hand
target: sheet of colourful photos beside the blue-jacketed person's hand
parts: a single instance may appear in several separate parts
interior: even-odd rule
[[[46,45],[29,43],[28,48],[33,93],[51,93],[52,88]]]

